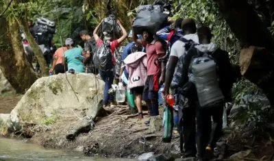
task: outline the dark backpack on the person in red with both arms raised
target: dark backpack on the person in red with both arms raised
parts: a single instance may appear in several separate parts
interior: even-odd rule
[[[98,66],[98,69],[101,71],[112,69],[112,51],[110,49],[110,43],[103,42],[96,52],[94,62],[95,66]]]

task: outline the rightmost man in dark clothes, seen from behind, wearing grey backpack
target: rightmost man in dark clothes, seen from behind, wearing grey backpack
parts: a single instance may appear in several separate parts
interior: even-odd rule
[[[191,68],[190,64],[192,58],[206,58],[210,55],[210,58],[216,63],[216,70],[218,75],[217,88],[221,90],[223,98],[221,101],[214,103],[214,106],[201,107],[199,101],[201,101],[197,93],[193,93],[189,97],[194,98],[194,106],[196,118],[197,118],[197,149],[199,161],[211,160],[213,155],[213,149],[216,142],[219,140],[222,134],[223,125],[223,105],[226,102],[232,101],[230,92],[234,82],[232,64],[229,61],[229,55],[227,51],[224,51],[218,47],[218,45],[211,42],[212,34],[209,27],[200,27],[197,29],[199,37],[199,45],[195,45],[184,56],[184,66],[186,69],[182,70],[182,75],[188,75],[188,71]],[[203,69],[201,69],[203,70]],[[201,72],[201,71],[200,71]],[[210,75],[212,76],[212,75]],[[188,79],[188,77],[186,77]],[[200,77],[201,79],[201,77]],[[204,79],[204,77],[203,77]],[[212,82],[213,77],[210,77]],[[188,80],[181,80],[182,82],[189,82]],[[191,82],[191,81],[190,81]],[[207,88],[212,88],[213,85],[206,85]],[[216,89],[216,88],[215,88]],[[214,90],[216,93],[216,90]],[[215,97],[217,97],[215,95]],[[207,101],[209,101],[208,96]],[[211,121],[212,118],[212,121]]]

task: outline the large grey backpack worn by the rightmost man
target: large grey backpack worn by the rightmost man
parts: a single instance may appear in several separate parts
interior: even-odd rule
[[[201,108],[219,106],[224,100],[219,87],[219,67],[212,58],[214,51],[203,53],[197,49],[197,55],[192,56],[188,67],[188,82],[195,84]]]

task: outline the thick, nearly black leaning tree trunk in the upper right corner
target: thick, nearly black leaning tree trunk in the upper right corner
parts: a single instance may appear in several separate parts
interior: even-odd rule
[[[265,47],[274,52],[274,39],[246,0],[219,0],[221,16],[243,47]]]

